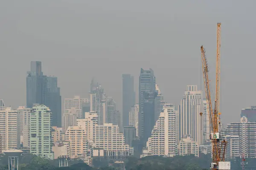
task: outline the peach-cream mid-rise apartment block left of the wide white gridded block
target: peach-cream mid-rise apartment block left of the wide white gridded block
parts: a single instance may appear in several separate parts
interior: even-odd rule
[[[70,142],[70,158],[82,156],[88,149],[85,129],[82,126],[70,126],[65,133],[65,141]]]

